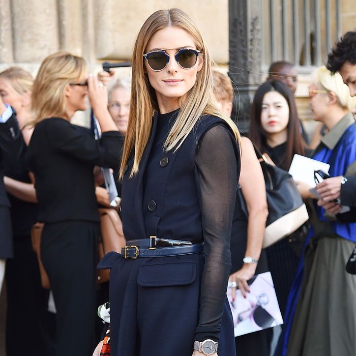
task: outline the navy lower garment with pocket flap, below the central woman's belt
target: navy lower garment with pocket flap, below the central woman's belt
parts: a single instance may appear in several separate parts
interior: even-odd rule
[[[124,259],[104,256],[110,272],[111,356],[191,356],[199,317],[202,253]],[[225,300],[219,356],[235,354]]]

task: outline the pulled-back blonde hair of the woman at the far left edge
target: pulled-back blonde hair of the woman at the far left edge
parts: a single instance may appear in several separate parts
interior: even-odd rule
[[[19,95],[25,95],[32,91],[34,79],[32,75],[21,67],[10,67],[0,73],[6,83]]]

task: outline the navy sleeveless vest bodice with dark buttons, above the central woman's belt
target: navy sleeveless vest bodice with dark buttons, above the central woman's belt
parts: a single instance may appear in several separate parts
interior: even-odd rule
[[[195,152],[205,132],[218,124],[227,125],[219,117],[202,116],[179,150],[167,152],[162,147],[158,153],[150,155],[155,141],[157,116],[156,113],[138,174],[129,179],[132,158],[125,168],[122,183],[125,238],[133,240],[154,235],[158,238],[202,242],[201,214],[195,181]],[[145,174],[148,173],[145,168],[149,158],[151,170],[152,166],[156,169]],[[147,177],[150,182],[147,182]],[[146,191],[147,186],[150,191]]]

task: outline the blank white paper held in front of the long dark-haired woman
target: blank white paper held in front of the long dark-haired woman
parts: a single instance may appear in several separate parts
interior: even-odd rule
[[[329,172],[330,164],[313,160],[312,158],[301,155],[294,155],[289,168],[289,174],[294,181],[301,181],[308,184],[311,188],[316,186],[314,181],[314,170]]]

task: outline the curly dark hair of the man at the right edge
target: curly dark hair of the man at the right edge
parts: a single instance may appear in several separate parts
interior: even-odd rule
[[[327,68],[334,74],[345,62],[356,64],[356,32],[346,32],[328,54]]]

